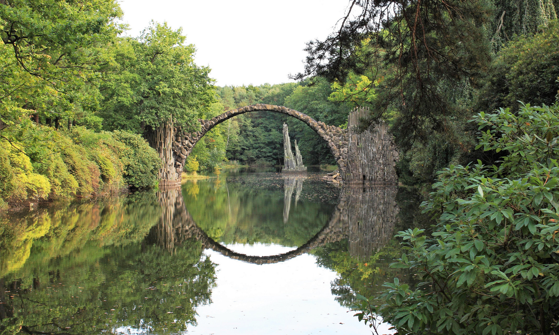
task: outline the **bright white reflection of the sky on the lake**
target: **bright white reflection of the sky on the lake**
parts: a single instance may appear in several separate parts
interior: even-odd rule
[[[228,245],[241,253],[273,255],[280,245]],[[206,250],[217,263],[210,305],[197,308],[197,327],[188,334],[370,334],[353,312],[330,293],[334,271],[304,253],[291,260],[256,265]],[[386,329],[387,327],[385,327]]]

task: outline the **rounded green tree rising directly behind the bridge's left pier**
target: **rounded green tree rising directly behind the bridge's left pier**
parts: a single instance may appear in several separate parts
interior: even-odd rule
[[[197,130],[197,118],[214,102],[210,69],[194,63],[194,45],[184,45],[182,28],[151,22],[138,39],[113,46],[115,69],[101,86],[105,128],[137,133],[173,123]]]

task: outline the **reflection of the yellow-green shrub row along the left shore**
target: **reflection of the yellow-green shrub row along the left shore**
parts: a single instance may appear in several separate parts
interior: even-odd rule
[[[157,222],[159,213],[155,194],[141,193],[3,217],[0,275],[20,270],[26,262],[35,266],[48,264],[49,260],[67,256],[86,243],[108,246],[140,241]]]

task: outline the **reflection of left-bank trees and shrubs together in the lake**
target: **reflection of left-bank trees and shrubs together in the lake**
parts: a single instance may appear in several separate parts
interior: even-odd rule
[[[143,193],[35,212],[12,222],[25,232],[24,227],[36,230],[33,222],[51,220],[47,232],[30,242],[24,264],[0,281],[0,333],[97,334],[121,327],[177,333],[195,324],[195,307],[210,302],[215,264],[201,257],[197,241],[185,240],[168,251],[164,228],[169,222],[162,218],[176,216],[166,214],[169,208],[162,211],[154,194]],[[142,241],[158,221],[150,236],[163,232],[155,234],[163,247]],[[6,231],[0,230],[2,246],[30,239],[21,242]]]

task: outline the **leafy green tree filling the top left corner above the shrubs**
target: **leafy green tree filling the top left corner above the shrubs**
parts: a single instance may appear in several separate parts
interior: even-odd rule
[[[117,24],[121,15],[112,0],[0,3],[4,140],[38,152],[44,146],[43,131],[29,130],[31,115],[36,122],[54,118],[58,126],[60,119],[72,118],[75,109],[96,107],[97,91],[86,87],[94,86],[96,70],[107,61],[103,47],[122,32]]]

